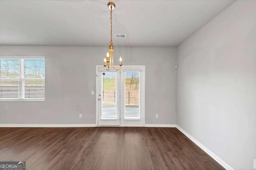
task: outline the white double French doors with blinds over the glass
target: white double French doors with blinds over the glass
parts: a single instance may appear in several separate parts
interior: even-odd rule
[[[144,125],[145,66],[97,67],[98,125]]]

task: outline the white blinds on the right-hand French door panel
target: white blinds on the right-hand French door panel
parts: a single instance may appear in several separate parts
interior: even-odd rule
[[[124,119],[140,119],[140,72],[124,72]]]

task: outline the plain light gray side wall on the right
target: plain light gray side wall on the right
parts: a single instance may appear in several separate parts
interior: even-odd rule
[[[177,123],[237,170],[256,158],[256,1],[236,1],[178,46]]]

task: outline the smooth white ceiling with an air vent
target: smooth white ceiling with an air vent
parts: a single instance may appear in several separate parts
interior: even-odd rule
[[[1,45],[107,46],[110,10],[103,0],[1,0]],[[113,0],[113,43],[173,47],[234,0]],[[114,38],[126,34],[126,39]]]

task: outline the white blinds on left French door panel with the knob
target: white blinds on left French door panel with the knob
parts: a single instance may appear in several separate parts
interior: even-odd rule
[[[117,72],[101,74],[101,119],[117,119]]]

